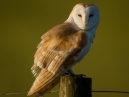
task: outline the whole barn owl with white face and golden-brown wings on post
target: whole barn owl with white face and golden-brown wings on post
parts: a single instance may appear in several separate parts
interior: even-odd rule
[[[93,4],[76,4],[68,19],[42,37],[31,70],[36,77],[28,96],[40,97],[50,91],[72,66],[88,53],[93,42],[100,15]]]

